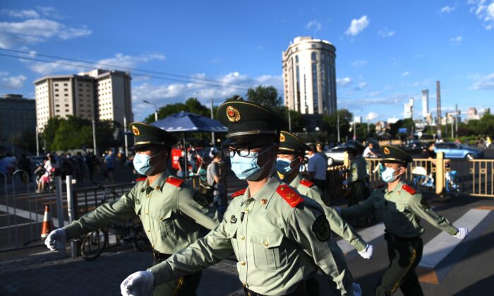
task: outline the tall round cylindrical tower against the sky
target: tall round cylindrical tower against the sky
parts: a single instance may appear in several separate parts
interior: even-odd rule
[[[336,48],[330,42],[296,37],[283,51],[284,104],[303,114],[337,110]]]

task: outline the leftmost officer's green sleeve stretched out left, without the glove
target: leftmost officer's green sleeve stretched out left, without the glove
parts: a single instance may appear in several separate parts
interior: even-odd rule
[[[65,226],[67,240],[78,238],[83,233],[111,226],[119,221],[134,217],[135,186],[115,202],[107,202]]]

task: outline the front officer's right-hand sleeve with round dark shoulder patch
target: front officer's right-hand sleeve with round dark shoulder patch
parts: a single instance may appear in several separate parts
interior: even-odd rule
[[[337,284],[342,295],[349,294],[354,278],[342,250],[331,236],[330,225],[320,206],[306,199],[303,206],[293,209],[288,223],[289,238],[313,258],[314,263]]]

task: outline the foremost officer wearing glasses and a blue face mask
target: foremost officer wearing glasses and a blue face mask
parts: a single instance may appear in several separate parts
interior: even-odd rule
[[[122,294],[140,295],[235,254],[246,295],[306,295],[305,280],[318,269],[342,295],[360,295],[323,209],[272,176],[287,122],[248,101],[226,102],[217,116],[228,125],[223,149],[231,170],[248,187],[229,204],[219,226],[161,264],[128,276]]]

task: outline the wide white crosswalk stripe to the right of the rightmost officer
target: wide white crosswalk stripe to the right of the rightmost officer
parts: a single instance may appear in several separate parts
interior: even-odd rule
[[[448,233],[441,232],[427,242],[416,270],[418,279],[424,283],[439,284],[493,218],[494,213],[491,211],[470,209],[453,223],[455,226],[469,229],[469,236],[464,240],[458,240]]]

